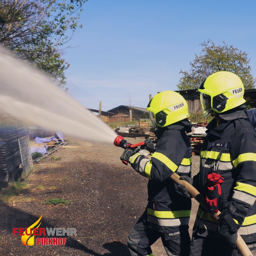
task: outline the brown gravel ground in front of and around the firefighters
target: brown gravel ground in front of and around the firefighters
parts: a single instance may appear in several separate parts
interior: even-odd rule
[[[143,140],[126,139],[132,143]],[[34,165],[27,187],[18,196],[8,204],[0,202],[1,256],[129,256],[127,236],[146,207],[147,179],[122,164],[122,148],[78,138],[67,140],[67,146]],[[53,156],[61,160],[53,161]],[[194,176],[199,156],[193,156],[192,166]],[[71,203],[43,203],[51,198]],[[192,199],[190,234],[197,206]],[[13,228],[28,228],[41,215],[40,228],[76,228],[77,236],[65,236],[65,246],[24,246],[21,236],[12,235]],[[160,240],[152,250],[155,256],[166,255]]]

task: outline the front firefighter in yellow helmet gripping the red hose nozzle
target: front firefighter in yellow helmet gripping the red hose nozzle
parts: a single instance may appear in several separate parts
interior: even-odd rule
[[[134,154],[126,149],[121,156],[148,178],[148,204],[128,236],[128,248],[132,256],[153,256],[150,246],[161,238],[168,256],[188,256],[191,199],[169,178],[174,172],[191,177],[188,105],[177,92],[164,91],[152,98],[147,109],[158,138],[151,160],[145,150]]]

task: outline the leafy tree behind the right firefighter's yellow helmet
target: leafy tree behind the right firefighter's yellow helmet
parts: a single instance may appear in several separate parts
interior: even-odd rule
[[[190,62],[191,70],[180,71],[177,87],[180,90],[196,89],[210,74],[217,71],[230,71],[238,75],[244,87],[251,89],[255,87],[255,79],[251,74],[249,66],[250,59],[246,52],[242,52],[234,46],[216,46],[211,40],[200,44],[203,49],[199,56],[196,55],[194,62]]]

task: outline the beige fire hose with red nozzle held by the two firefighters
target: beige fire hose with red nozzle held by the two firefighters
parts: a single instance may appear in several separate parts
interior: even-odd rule
[[[138,144],[131,144],[130,142],[124,140],[124,138],[122,136],[117,136],[114,140],[115,146],[121,147],[124,149],[130,148],[134,152],[140,151],[139,146],[142,146],[144,144],[145,144],[145,142],[140,142]],[[151,159],[151,155],[149,155],[147,158]],[[128,162],[125,162],[125,161],[123,161],[123,163],[128,164]],[[200,194],[195,187],[193,187],[191,184],[189,184],[185,180],[180,180],[180,176],[178,174],[176,174],[176,172],[174,172],[170,176],[170,179],[173,180],[174,182],[176,182],[178,185],[184,185],[184,187],[186,188],[186,190],[188,191],[190,196],[192,196],[199,204],[201,204],[204,207],[205,210],[207,210],[209,212],[208,204],[206,203],[205,197],[202,194]],[[212,217],[215,220],[219,220],[220,214],[221,214],[221,212],[218,211],[217,213],[212,215]],[[242,239],[240,234],[237,234],[236,247],[240,251],[242,256],[252,256],[252,252],[249,250],[248,246],[246,245],[246,243],[244,242],[244,240]]]

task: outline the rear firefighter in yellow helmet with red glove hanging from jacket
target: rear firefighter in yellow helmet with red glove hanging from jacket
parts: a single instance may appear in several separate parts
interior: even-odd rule
[[[231,72],[216,72],[201,84],[208,124],[193,185],[208,203],[198,208],[190,256],[236,256],[237,234],[256,255],[256,132],[247,121],[244,85]],[[211,214],[222,212],[219,223]]]

